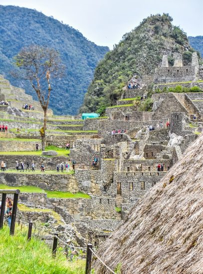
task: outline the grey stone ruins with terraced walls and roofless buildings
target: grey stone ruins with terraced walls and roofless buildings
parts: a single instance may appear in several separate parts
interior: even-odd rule
[[[162,66],[156,69],[155,75],[144,76],[143,79],[146,83],[154,81],[161,86],[166,83],[173,85],[174,81],[193,81],[201,75],[201,70],[197,70],[197,54],[193,54],[191,66],[182,66],[181,56],[177,57],[175,64],[176,67],[169,67],[167,56],[164,55]],[[5,84],[3,78],[0,79],[0,85],[4,85],[2,83]],[[203,127],[203,93],[155,93],[152,96],[154,106],[151,112],[136,110],[132,104],[133,98],[143,94],[146,94],[145,85],[136,90],[125,90],[122,97],[125,100],[119,100],[114,108],[107,108],[105,117],[100,119],[82,121],[79,117],[54,117],[50,112],[46,143],[64,147],[69,142],[72,147],[74,142],[75,147],[70,149],[68,158],[76,160],[75,173],[50,175],[1,172],[1,183],[89,194],[90,199],[57,199],[48,198],[46,193],[21,193],[19,201],[29,207],[52,209],[61,216],[63,225],[58,230],[62,237],[65,238],[66,232],[80,245],[91,241],[98,247],[122,222],[133,205],[159,183],[182,157],[186,148],[198,137],[197,128]],[[2,88],[0,96],[9,97]],[[11,120],[8,108],[2,107],[1,114],[2,119]],[[33,115],[30,117],[28,113],[23,118],[13,116],[12,121],[7,122],[8,128],[38,128],[35,119],[40,121],[42,117],[39,113],[35,117]],[[30,124],[31,121],[33,123]],[[170,128],[166,127],[167,121],[170,122]],[[150,125],[154,130],[149,131]],[[66,134],[67,127],[73,133]],[[75,133],[76,128],[81,132]],[[112,134],[116,130],[121,133]],[[23,139],[40,140],[39,133],[35,131],[22,131],[16,136],[22,138],[17,147],[16,142],[3,141],[1,136],[2,150],[24,151],[25,146],[27,150],[34,150],[35,142],[25,143]],[[95,156],[99,157],[99,162],[93,167],[91,163]],[[59,161],[67,161],[67,157],[47,158],[43,155],[5,154],[0,155],[0,158],[8,168],[13,168],[16,160],[23,160],[34,161],[36,168],[43,162],[46,170],[54,169]],[[163,164],[163,171],[158,170],[159,163]]]

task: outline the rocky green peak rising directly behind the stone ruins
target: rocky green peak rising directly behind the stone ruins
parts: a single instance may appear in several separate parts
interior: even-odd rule
[[[170,65],[175,52],[182,53],[184,64],[188,64],[194,49],[186,33],[173,26],[172,21],[169,14],[151,15],[126,33],[96,67],[81,112],[102,112],[106,106],[114,105],[133,74],[151,75],[164,53],[169,54]]]

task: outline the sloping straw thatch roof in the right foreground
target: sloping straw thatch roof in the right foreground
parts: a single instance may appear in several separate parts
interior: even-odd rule
[[[203,135],[97,253],[122,274],[203,274]],[[98,260],[93,267],[110,273]]]

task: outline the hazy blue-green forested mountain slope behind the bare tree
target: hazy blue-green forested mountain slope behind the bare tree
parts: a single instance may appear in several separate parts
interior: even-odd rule
[[[66,66],[65,77],[52,82],[49,107],[58,115],[76,114],[95,67],[109,48],[88,41],[78,30],[52,16],[29,8],[0,5],[0,74],[34,96],[28,82],[10,75],[14,68],[13,56],[30,44],[52,47],[60,52]]]

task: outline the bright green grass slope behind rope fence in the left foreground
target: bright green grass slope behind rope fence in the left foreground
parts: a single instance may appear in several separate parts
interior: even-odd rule
[[[9,236],[8,227],[0,230],[0,273],[8,274],[83,274],[84,265],[69,264],[58,248],[56,259],[51,249],[34,237],[27,241],[27,229],[15,228],[15,235]],[[5,252],[7,251],[7,252]]]

